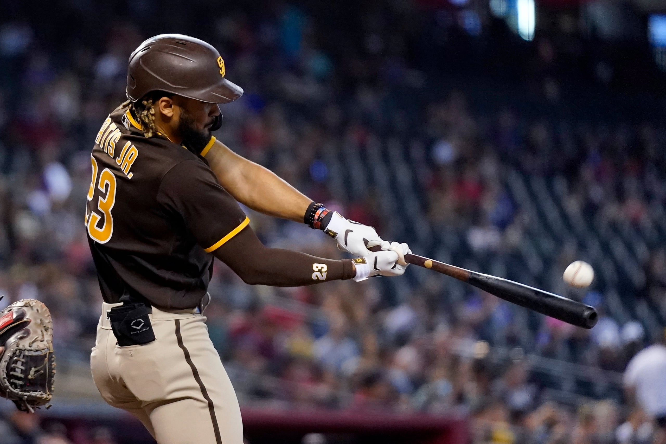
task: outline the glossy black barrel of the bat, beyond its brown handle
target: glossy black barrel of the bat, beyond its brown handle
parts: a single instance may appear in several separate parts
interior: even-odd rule
[[[470,272],[467,282],[505,301],[567,324],[582,328],[593,328],[597,324],[595,308],[557,294],[476,272]]]

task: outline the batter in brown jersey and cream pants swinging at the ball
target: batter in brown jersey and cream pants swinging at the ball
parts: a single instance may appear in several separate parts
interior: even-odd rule
[[[85,225],[104,298],[91,355],[103,399],[160,444],[242,444],[240,409],[204,324],[213,257],[244,282],[303,286],[404,273],[406,244],[316,204],[211,136],[242,89],[214,47],[158,35],[95,138]],[[354,260],[266,248],[237,202],[323,230]],[[380,246],[371,252],[368,247]]]

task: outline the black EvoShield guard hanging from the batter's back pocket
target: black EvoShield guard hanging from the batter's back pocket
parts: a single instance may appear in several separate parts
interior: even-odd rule
[[[109,311],[111,330],[118,340],[118,345],[126,347],[155,341],[149,313],[149,308],[144,304],[125,304]]]

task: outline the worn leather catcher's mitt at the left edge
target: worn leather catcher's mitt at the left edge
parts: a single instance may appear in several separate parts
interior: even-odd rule
[[[35,411],[51,401],[53,375],[49,309],[33,299],[14,302],[0,312],[0,396],[21,411]]]

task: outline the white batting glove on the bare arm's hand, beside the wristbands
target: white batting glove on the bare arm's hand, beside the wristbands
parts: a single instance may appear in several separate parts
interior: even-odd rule
[[[338,212],[333,213],[330,222],[323,230],[338,242],[340,250],[346,251],[352,256],[361,258],[370,256],[372,252],[368,250],[368,247],[380,246],[382,250],[389,248],[389,243],[382,240],[374,228],[345,219]]]

